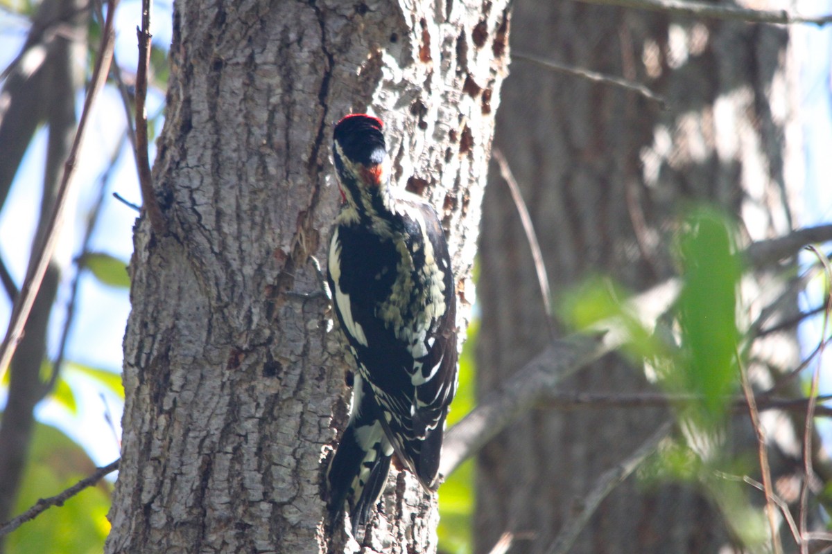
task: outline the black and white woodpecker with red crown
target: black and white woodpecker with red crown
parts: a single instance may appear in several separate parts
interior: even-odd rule
[[[334,129],[343,200],[329,242],[329,290],[357,368],[349,424],[329,466],[333,517],[369,521],[393,453],[438,487],[448,405],[457,389],[456,294],[433,207],[390,186],[384,125],[347,115]]]

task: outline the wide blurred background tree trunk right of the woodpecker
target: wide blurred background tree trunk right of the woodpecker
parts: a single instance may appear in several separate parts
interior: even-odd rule
[[[495,148],[522,186],[556,297],[591,272],[636,291],[670,277],[669,245],[686,203],[721,204],[752,239],[790,230],[784,143],[795,74],[785,65],[785,28],[548,0],[518,1],[513,24],[523,29],[514,53],[641,81],[669,103],[663,111],[631,92],[514,61]],[[480,395],[547,344],[526,239],[496,171],[492,180],[481,237]],[[793,337],[779,354],[781,367],[794,364]],[[651,385],[610,355],[564,390]],[[546,552],[592,483],[670,417],[663,409],[528,414],[478,458],[477,552],[506,530],[532,537],[512,552]],[[743,419],[735,428],[748,435],[749,426]],[[646,493],[630,479],[571,552],[718,552],[731,538],[693,487]]]

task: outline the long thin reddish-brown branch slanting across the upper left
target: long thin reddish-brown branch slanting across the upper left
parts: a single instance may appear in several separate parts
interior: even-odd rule
[[[106,21],[102,30],[102,42],[98,48],[99,55],[96,61],[96,67],[92,71],[92,81],[87,90],[87,98],[84,101],[75,140],[72,142],[72,149],[70,150],[66,164],[64,164],[63,179],[57,191],[55,207],[52,210],[52,215],[46,226],[43,241],[38,245],[37,252],[35,252],[35,256],[33,257],[37,262],[31,264],[30,271],[27,272],[26,279],[23,281],[20,296],[17,297],[17,302],[12,307],[12,317],[11,321],[9,321],[6,336],[3,339],[2,346],[0,346],[0,380],[2,380],[2,376],[7,370],[9,360],[12,359],[12,355],[17,348],[17,343],[22,338],[23,326],[26,324],[29,312],[32,311],[32,305],[35,302],[37,291],[41,286],[43,275],[47,270],[49,260],[52,258],[52,252],[55,251],[57,245],[57,229],[60,228],[60,223],[62,223],[64,216],[67,194],[72,184],[72,177],[75,174],[84,131],[87,129],[87,120],[92,111],[92,104],[96,100],[98,92],[104,86],[104,81],[106,81],[112,60],[112,45],[114,39],[112,22],[116,12],[116,2],[117,0],[111,0],[109,3]]]

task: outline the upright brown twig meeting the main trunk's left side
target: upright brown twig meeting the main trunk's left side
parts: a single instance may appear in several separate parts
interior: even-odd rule
[[[153,191],[151,163],[147,154],[147,73],[151,64],[151,0],[141,2],[141,29],[136,27],[139,39],[139,66],[136,70],[136,166],[139,172],[141,200],[151,220],[153,231],[165,233],[165,217],[161,213]]]

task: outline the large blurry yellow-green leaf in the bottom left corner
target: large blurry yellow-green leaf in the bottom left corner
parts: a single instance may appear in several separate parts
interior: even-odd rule
[[[39,498],[61,493],[95,471],[83,449],[61,431],[37,424],[32,449],[23,474],[15,515],[32,507]],[[50,507],[7,537],[7,552],[40,554],[100,554],[110,524],[111,486],[102,481],[69,498],[62,507]]]

